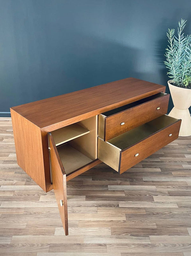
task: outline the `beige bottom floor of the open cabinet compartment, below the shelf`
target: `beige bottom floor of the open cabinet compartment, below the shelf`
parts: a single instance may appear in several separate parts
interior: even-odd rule
[[[69,174],[93,160],[68,144],[57,148],[66,174]]]

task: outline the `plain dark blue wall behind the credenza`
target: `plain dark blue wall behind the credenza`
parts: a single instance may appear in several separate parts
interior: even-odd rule
[[[188,0],[1,0],[0,6],[0,112],[130,76],[166,85],[166,31],[184,18],[191,34]]]

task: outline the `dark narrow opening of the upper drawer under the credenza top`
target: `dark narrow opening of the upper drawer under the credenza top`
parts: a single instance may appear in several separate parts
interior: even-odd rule
[[[149,96],[149,97],[146,97],[144,99],[141,99],[141,100],[138,100],[138,101],[135,101],[135,102],[132,102],[132,103],[129,103],[127,105],[124,105],[124,106],[121,106],[121,107],[118,107],[118,108],[115,108],[115,109],[112,109],[110,111],[107,111],[107,112],[104,112],[102,113],[104,116],[111,116],[111,115],[114,115],[114,114],[117,114],[121,111],[124,111],[124,110],[127,110],[129,108],[132,108],[132,107],[136,107],[138,105],[141,105],[143,103],[146,103],[148,101],[151,101],[153,99],[156,99],[156,98],[159,98],[159,97],[163,97],[164,95],[166,95],[166,93],[163,93],[163,92],[160,92],[160,93],[157,93],[157,94],[154,94],[152,96]]]

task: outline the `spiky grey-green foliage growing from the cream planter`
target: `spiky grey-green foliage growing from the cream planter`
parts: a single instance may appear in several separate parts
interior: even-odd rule
[[[164,63],[174,85],[191,88],[191,35],[185,36],[183,33],[186,21],[179,21],[178,36],[175,36],[174,28],[168,29],[166,35],[169,45],[166,48]]]

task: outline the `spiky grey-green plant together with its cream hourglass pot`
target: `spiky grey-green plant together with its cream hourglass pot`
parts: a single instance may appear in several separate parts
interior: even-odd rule
[[[166,48],[166,61],[168,68],[168,86],[173,99],[174,107],[169,113],[177,119],[182,119],[179,136],[191,136],[191,35],[184,35],[183,29],[186,21],[181,19],[178,23],[178,35],[175,29],[168,29],[169,45]]]

